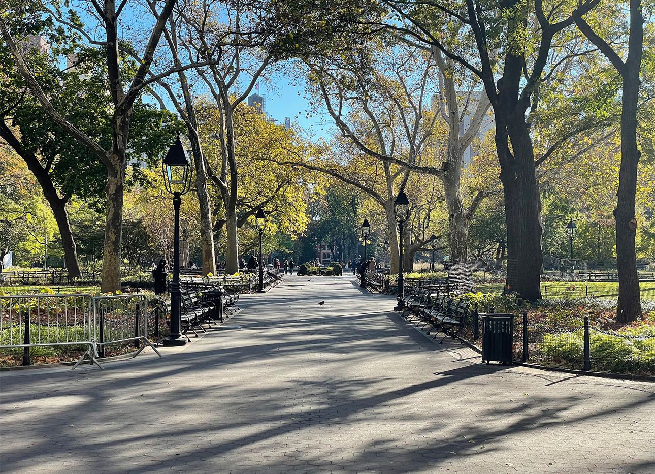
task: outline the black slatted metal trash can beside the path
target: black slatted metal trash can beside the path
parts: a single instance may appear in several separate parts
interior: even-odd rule
[[[514,318],[506,313],[480,313],[482,320],[482,361],[512,363]]]

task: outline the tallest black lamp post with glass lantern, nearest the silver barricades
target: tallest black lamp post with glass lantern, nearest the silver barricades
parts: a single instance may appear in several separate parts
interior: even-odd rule
[[[181,140],[170,146],[162,162],[164,172],[164,185],[166,191],[173,195],[173,208],[175,210],[173,226],[173,282],[170,285],[170,335],[162,341],[164,346],[184,346],[187,341],[180,332],[181,299],[179,285],[179,206],[182,196],[191,189],[191,174],[193,167],[187,150],[182,146]]]

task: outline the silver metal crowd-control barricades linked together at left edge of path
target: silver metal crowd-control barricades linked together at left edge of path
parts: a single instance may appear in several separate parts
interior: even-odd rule
[[[148,340],[147,302],[142,294],[29,294],[0,296],[0,352],[31,357],[88,357],[100,368],[107,346],[134,347],[135,357]],[[143,343],[143,344],[140,344]],[[131,346],[130,346],[131,344]],[[79,357],[79,359],[78,359]]]

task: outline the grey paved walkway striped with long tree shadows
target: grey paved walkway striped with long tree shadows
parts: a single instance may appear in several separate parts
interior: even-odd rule
[[[4,372],[0,471],[655,472],[655,384],[481,365],[351,277],[244,300],[164,359]]]

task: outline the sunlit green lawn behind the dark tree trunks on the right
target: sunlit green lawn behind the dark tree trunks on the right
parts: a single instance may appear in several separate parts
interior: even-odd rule
[[[483,293],[502,292],[502,283],[481,283],[476,285],[476,291]],[[655,283],[641,283],[641,296],[643,300],[655,301]],[[553,281],[541,284],[541,293],[544,298],[616,298],[618,296],[618,283],[602,281]]]

